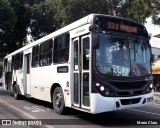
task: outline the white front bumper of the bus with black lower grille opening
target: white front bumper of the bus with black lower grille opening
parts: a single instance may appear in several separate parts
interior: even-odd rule
[[[122,109],[130,109],[153,104],[154,91],[132,97],[104,97],[98,93],[91,94],[91,113],[102,113]]]

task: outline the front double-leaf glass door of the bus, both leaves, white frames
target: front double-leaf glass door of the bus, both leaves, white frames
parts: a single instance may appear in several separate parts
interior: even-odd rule
[[[89,36],[73,40],[74,47],[74,106],[89,109],[89,80],[90,80],[90,41]]]

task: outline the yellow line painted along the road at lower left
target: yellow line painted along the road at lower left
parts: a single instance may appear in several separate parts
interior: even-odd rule
[[[23,113],[25,116],[29,117],[30,119],[34,119],[34,120],[38,119],[38,118],[36,118],[36,117],[34,117],[34,116],[32,116],[32,115],[30,115],[30,114],[28,114],[28,113],[26,113],[26,112],[18,109],[18,108],[16,108],[15,106],[13,106],[13,105],[11,105],[11,104],[9,104],[9,103],[1,100],[1,99],[0,99],[0,102],[3,103],[3,104],[5,104],[5,105],[7,105],[7,106],[9,106],[12,109],[18,111],[18,112],[20,112],[20,113]],[[43,125],[43,126],[46,127],[46,128],[55,128],[55,127],[50,126],[50,125]]]

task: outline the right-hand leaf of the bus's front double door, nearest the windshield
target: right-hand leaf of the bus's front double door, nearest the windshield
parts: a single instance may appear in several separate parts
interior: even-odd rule
[[[89,35],[81,38],[81,107],[90,106],[90,38]]]

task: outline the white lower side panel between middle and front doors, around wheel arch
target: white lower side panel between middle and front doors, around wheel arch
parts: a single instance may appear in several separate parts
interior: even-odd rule
[[[57,73],[57,67],[66,66],[50,65],[31,69],[31,97],[51,102],[50,91],[52,85],[59,84],[64,92],[66,103],[70,101],[69,73]],[[69,69],[69,67],[68,67]],[[67,86],[68,85],[68,86]],[[66,92],[67,91],[67,92]],[[69,102],[70,103],[70,102]],[[69,106],[71,106],[69,104]]]

